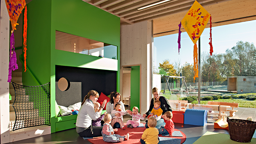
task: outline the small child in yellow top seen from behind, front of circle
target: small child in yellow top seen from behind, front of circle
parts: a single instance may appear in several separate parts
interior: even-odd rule
[[[157,124],[156,118],[150,117],[148,119],[148,127],[142,134],[142,138],[140,139],[140,143],[142,144],[158,144],[158,129],[155,128]]]

